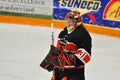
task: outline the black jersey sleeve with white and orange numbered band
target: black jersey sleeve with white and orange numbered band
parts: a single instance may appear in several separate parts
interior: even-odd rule
[[[81,31],[80,37],[82,41],[77,44],[75,55],[79,59],[79,63],[86,64],[91,59],[91,37],[85,29]]]

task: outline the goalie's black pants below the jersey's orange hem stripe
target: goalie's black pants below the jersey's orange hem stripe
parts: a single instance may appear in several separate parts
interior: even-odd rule
[[[55,80],[85,80],[84,68],[55,69]]]

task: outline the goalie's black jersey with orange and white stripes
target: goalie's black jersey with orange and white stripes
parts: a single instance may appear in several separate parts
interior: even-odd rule
[[[81,66],[90,61],[91,47],[91,37],[83,24],[69,34],[65,27],[58,36],[57,48],[74,53],[77,57],[75,66]]]

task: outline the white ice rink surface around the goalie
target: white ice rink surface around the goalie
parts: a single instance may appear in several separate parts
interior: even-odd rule
[[[55,42],[59,29],[54,30]],[[120,38],[92,34],[86,80],[120,80]],[[49,51],[51,29],[0,24],[0,80],[50,80],[39,64]]]

